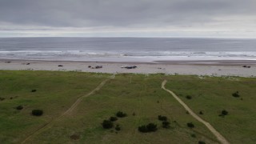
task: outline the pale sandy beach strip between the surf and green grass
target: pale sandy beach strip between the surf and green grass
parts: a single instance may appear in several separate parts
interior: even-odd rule
[[[102,68],[96,69],[96,66]],[[137,66],[126,69],[122,66]],[[61,70],[96,73],[192,74],[255,77],[255,61],[164,61],[164,62],[61,62],[38,60],[0,60],[0,70]]]

